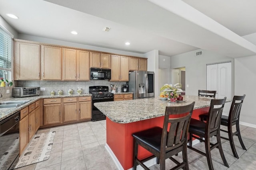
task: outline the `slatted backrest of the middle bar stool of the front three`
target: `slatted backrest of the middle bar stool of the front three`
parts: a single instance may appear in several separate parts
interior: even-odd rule
[[[210,109],[206,121],[206,133],[212,133],[213,131],[218,130],[225,102],[226,97],[224,99],[211,100]]]

